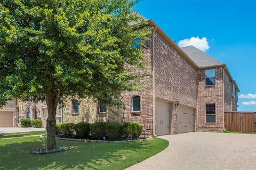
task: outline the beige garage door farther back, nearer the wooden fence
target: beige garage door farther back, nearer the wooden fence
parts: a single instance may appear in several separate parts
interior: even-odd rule
[[[178,106],[178,133],[195,131],[195,113],[193,108]]]

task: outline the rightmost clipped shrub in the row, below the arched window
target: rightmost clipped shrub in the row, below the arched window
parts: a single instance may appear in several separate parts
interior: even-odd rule
[[[141,134],[142,124],[139,122],[124,122],[123,131],[126,138],[138,138]]]

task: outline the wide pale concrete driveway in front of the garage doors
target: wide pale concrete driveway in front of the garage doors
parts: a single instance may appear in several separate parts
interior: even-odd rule
[[[256,169],[256,135],[191,132],[165,135],[169,147],[127,169]]]

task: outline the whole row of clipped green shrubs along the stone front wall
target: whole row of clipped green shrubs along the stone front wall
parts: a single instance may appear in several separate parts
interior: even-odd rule
[[[142,125],[139,122],[124,122],[124,123],[57,123],[56,134],[71,135],[76,133],[78,138],[84,138],[89,133],[96,139],[119,139],[124,135],[126,138],[138,138],[141,134]]]

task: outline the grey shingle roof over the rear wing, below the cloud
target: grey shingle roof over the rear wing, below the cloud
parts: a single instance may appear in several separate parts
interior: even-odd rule
[[[198,67],[223,64],[194,46],[181,47],[181,49],[196,63]]]

